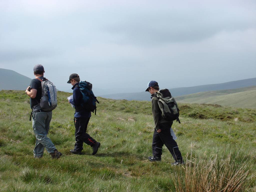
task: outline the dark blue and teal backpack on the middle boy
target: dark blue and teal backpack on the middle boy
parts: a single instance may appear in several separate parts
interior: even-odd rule
[[[96,102],[100,103],[95,95],[92,92],[92,84],[87,81],[80,81],[76,86],[79,87],[80,92],[83,96],[83,101],[81,103],[82,109],[86,109],[88,111],[94,112],[96,115]],[[79,109],[76,109],[78,111]]]

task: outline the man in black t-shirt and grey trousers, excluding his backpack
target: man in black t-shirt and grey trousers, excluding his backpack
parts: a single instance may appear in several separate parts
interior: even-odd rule
[[[58,159],[62,154],[56,149],[50,138],[47,137],[50,129],[52,111],[43,111],[40,107],[40,99],[42,96],[40,80],[45,80],[44,72],[42,65],[36,65],[34,67],[35,79],[31,80],[30,86],[25,91],[30,97],[30,107],[33,110],[32,124],[36,136],[36,146],[33,152],[35,158],[41,158],[44,153],[44,148],[46,148],[53,159]]]

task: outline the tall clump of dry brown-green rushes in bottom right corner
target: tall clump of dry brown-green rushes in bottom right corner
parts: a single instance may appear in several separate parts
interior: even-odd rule
[[[198,161],[188,159],[185,166],[175,167],[172,179],[173,191],[179,192],[241,192],[250,187],[255,173],[250,173],[251,163],[247,151],[226,148],[223,154]],[[254,179],[255,181],[255,179]],[[253,187],[253,186],[251,186]]]

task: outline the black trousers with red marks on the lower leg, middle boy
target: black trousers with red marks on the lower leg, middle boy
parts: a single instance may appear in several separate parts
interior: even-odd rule
[[[87,145],[93,146],[96,142],[88,133],[86,133],[87,126],[90,118],[74,118],[75,122],[75,137],[76,143],[74,150],[82,151],[83,150],[83,142]]]

